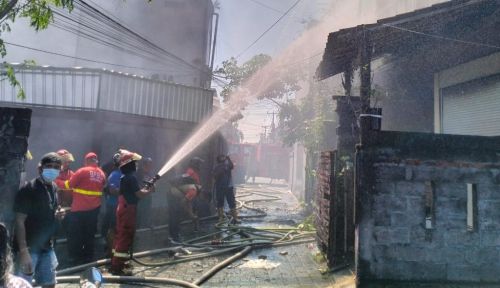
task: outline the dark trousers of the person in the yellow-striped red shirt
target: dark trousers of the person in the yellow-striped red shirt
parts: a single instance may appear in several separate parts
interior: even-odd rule
[[[70,214],[68,249],[71,260],[76,264],[92,262],[94,259],[94,238],[97,232],[99,208]]]

